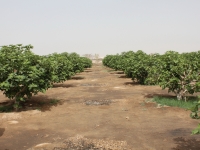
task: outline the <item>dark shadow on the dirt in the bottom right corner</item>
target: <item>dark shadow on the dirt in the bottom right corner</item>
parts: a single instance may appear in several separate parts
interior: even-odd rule
[[[173,140],[177,146],[172,148],[172,150],[200,150],[200,141],[197,141],[195,138],[185,139],[177,137]]]

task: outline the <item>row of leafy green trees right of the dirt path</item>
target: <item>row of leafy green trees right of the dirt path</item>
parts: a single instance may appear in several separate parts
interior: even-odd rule
[[[160,85],[174,92],[179,100],[200,91],[200,51],[182,54],[167,51],[163,55],[128,51],[107,55],[103,64],[124,71],[140,84]]]

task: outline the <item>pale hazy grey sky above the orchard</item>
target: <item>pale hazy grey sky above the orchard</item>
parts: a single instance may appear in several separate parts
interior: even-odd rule
[[[200,0],[0,0],[0,46],[116,54],[200,50]]]

